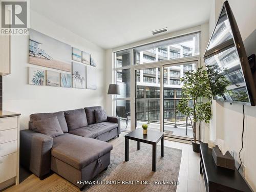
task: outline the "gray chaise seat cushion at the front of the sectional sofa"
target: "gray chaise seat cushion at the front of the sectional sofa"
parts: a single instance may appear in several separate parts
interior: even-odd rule
[[[112,144],[107,142],[66,133],[53,138],[51,154],[80,170],[109,153],[112,148]]]

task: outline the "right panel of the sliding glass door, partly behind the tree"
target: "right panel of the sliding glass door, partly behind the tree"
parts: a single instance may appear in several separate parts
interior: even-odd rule
[[[177,104],[182,99],[180,78],[190,70],[196,70],[195,62],[164,66],[163,75],[163,131],[165,135],[193,138],[189,117],[177,112]],[[193,101],[189,101],[192,106]]]

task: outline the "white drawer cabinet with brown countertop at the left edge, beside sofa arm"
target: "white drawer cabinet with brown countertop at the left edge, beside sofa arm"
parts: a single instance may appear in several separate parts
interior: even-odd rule
[[[0,111],[0,191],[19,180],[19,115]]]

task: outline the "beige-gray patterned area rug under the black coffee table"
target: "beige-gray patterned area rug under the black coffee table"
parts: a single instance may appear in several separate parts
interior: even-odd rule
[[[177,181],[179,176],[182,151],[164,147],[164,157],[160,155],[157,145],[157,170],[152,172],[152,145],[141,143],[137,150],[137,142],[130,140],[129,161],[124,161],[124,141],[115,146],[111,152],[111,164],[108,170],[101,172],[94,181],[96,185],[87,185],[83,191],[176,191],[177,185],[155,184],[155,181]],[[140,184],[108,184],[97,185],[98,181],[139,181]],[[148,181],[152,184],[141,184]],[[48,191],[77,191],[73,184],[63,181]]]

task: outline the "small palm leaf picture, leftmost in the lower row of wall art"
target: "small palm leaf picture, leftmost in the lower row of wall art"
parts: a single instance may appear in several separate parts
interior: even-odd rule
[[[37,68],[29,68],[29,84],[44,86],[45,70]]]

